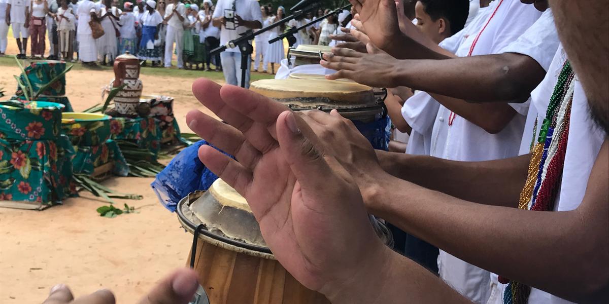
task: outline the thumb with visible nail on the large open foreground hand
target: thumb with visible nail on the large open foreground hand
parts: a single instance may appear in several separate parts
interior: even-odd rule
[[[284,111],[277,119],[276,131],[280,151],[301,187],[309,190],[325,187],[322,177],[332,173],[323,158],[323,148],[314,144],[319,139],[313,130],[294,112]]]

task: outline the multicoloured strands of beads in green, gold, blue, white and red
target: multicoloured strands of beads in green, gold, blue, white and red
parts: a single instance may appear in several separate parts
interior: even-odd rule
[[[518,208],[535,211],[551,211],[557,198],[569,136],[571,104],[576,81],[571,63],[566,61],[558,75],[558,81],[547,106],[546,118],[541,124],[537,143],[531,147],[531,160],[527,181],[520,193]],[[537,131],[533,130],[533,140]],[[504,291],[504,304],[526,304],[530,286],[499,277],[499,282],[509,283]]]

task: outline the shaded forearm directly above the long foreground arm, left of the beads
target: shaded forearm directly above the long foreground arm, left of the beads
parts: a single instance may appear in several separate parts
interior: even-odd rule
[[[485,162],[457,162],[376,150],[381,167],[396,178],[466,201],[517,207],[530,154]]]

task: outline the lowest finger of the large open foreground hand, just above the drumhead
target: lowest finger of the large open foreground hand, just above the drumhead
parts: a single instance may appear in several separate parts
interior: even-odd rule
[[[247,197],[247,190],[253,181],[252,171],[208,145],[199,148],[199,159],[239,194]]]

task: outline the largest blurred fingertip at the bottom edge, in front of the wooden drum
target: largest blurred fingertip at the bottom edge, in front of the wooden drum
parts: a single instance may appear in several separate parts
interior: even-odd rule
[[[197,288],[197,273],[188,268],[179,269],[163,278],[139,304],[188,304]]]

